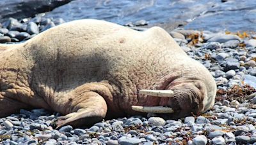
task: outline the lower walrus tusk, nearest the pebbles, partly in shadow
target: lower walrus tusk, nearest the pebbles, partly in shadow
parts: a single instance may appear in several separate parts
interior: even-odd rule
[[[163,106],[132,106],[132,110],[143,113],[174,113],[172,107]]]

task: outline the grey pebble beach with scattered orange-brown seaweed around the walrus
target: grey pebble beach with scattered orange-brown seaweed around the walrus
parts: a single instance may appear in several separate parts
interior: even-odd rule
[[[0,43],[26,41],[63,23],[62,18],[42,15],[9,18],[0,24]],[[206,113],[180,120],[164,120],[156,114],[127,116],[89,128],[67,125],[56,130],[59,113],[21,109],[19,114],[0,118],[0,144],[256,144],[256,34],[181,28],[169,33],[215,78],[216,102]]]

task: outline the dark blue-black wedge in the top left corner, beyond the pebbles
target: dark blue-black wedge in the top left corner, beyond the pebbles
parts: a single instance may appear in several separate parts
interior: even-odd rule
[[[37,13],[51,11],[71,0],[1,0],[0,1],[0,21],[7,18],[33,17]]]

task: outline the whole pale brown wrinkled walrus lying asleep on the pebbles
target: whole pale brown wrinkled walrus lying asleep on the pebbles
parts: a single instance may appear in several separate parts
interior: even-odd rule
[[[76,20],[0,50],[0,117],[45,108],[63,115],[57,128],[79,127],[135,114],[182,118],[214,104],[211,73],[160,27]]]

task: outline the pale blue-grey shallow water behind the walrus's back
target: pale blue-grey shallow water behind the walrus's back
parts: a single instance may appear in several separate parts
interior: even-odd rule
[[[127,24],[146,20],[148,24],[185,25],[185,29],[208,31],[256,31],[256,1],[231,0],[75,0],[46,17],[66,21],[97,18]]]

